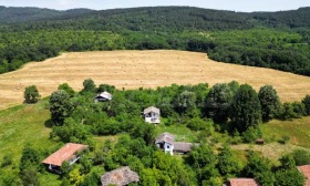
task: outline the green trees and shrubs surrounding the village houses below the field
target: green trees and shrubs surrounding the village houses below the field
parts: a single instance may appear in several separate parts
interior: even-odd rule
[[[107,91],[111,101],[95,102],[97,93]],[[38,102],[35,86],[25,89],[25,102]],[[161,108],[161,124],[144,122],[142,111],[147,106]],[[304,177],[297,165],[309,164],[310,154],[294,151],[282,155],[278,163],[249,151],[245,159],[236,158],[231,144],[254,143],[264,137],[260,125],[272,118],[290,120],[310,115],[310,95],[301,102],[281,103],[277,91],[265,85],[257,93],[250,85],[237,82],[220,83],[211,89],[207,83],[177,85],[156,90],[116,90],[113,85],[87,79],[83,90],[74,92],[69,84],[59,85],[48,99],[52,127],[49,141],[82,143],[90,146],[79,164],[63,163],[58,176],[62,186],[97,186],[100,176],[122,166],[130,166],[140,175],[133,185],[206,185],[221,186],[227,178],[252,177],[260,185],[303,186]],[[169,155],[158,149],[156,135],[167,127],[186,128],[183,132],[193,146],[187,155]],[[180,134],[178,134],[180,135]],[[180,136],[182,136],[180,135]],[[114,136],[102,144],[99,136]],[[272,138],[265,138],[271,143]],[[287,143],[283,136],[280,143]],[[9,152],[1,159],[0,184],[40,185],[39,177],[51,173],[41,161],[55,148],[38,149],[28,144],[17,166]],[[10,174],[12,173],[12,174]]]

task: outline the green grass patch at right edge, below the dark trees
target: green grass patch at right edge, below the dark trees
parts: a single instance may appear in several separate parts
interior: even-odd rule
[[[290,136],[289,143],[310,148],[310,116],[291,121],[271,121],[260,126],[267,141],[282,141],[283,135]]]

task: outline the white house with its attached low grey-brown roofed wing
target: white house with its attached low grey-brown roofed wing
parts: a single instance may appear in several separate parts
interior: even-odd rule
[[[170,155],[175,153],[187,154],[190,152],[193,146],[192,143],[175,142],[175,136],[169,133],[159,134],[155,144],[158,148],[163,149],[165,153],[169,153]]]

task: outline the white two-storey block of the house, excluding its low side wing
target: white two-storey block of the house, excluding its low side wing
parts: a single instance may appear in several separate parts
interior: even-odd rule
[[[169,133],[163,133],[158,135],[155,144],[158,148],[163,149],[165,153],[174,154],[174,140],[175,136]]]

